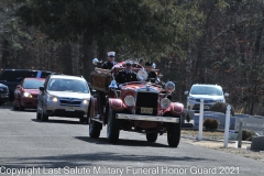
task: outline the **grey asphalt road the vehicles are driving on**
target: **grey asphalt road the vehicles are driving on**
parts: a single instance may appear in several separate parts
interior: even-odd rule
[[[121,131],[109,144],[106,128],[90,139],[78,119],[41,122],[34,110],[0,107],[1,175],[263,175],[263,163],[185,143],[167,146],[166,135],[147,143],[145,135]]]

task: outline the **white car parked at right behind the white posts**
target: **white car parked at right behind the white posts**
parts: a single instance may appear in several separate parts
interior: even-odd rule
[[[204,110],[209,110],[216,102],[226,102],[229,94],[223,94],[222,87],[218,85],[193,85],[190,91],[185,91],[187,95],[187,109],[199,111],[200,99],[204,99]]]

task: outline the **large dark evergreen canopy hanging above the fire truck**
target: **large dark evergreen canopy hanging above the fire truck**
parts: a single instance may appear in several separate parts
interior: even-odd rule
[[[18,14],[52,40],[89,35],[131,56],[184,55],[182,45],[201,35],[205,16],[196,2],[175,0],[28,1]]]

